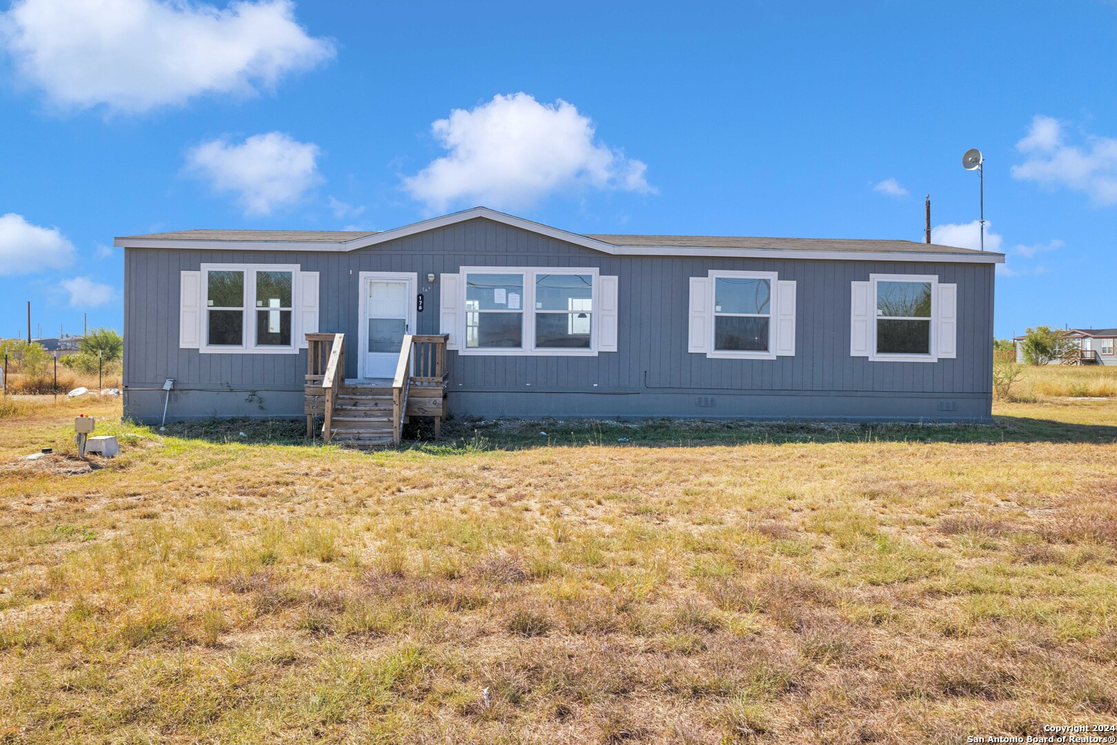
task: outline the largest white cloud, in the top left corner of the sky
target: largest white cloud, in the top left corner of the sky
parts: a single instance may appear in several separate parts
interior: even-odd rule
[[[250,94],[333,57],[290,0],[17,0],[0,44],[61,108],[144,112],[207,93]]]

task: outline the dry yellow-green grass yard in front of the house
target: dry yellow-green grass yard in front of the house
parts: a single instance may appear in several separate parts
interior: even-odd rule
[[[1114,723],[1117,400],[1029,374],[996,427],[480,422],[373,455],[0,403],[0,742]],[[122,457],[77,460],[77,412]]]

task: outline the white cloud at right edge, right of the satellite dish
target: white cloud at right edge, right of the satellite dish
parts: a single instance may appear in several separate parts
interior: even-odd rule
[[[1012,178],[1080,191],[1099,207],[1117,204],[1117,139],[1088,136],[1085,145],[1068,145],[1061,122],[1035,116],[1016,150],[1027,160],[1012,166]]]

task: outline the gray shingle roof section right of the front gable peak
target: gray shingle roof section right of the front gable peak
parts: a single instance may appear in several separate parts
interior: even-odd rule
[[[677,246],[680,248],[770,248],[785,251],[871,251],[896,254],[981,254],[972,248],[920,243],[914,240],[858,238],[747,238],[737,236],[586,236],[614,246]],[[986,251],[986,254],[990,251]]]

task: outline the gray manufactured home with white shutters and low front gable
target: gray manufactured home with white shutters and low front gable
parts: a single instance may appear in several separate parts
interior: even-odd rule
[[[125,411],[145,422],[164,403],[169,421],[324,413],[327,439],[362,407],[389,420],[990,420],[1001,254],[583,236],[486,208],[384,232],[116,246]]]

